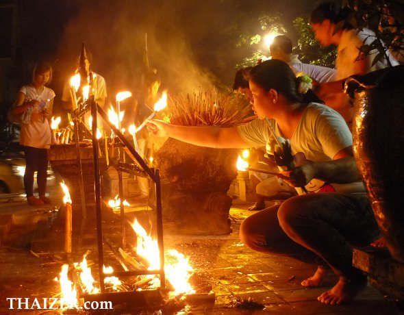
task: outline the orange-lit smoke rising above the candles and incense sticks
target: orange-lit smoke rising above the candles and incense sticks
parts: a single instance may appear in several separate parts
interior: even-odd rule
[[[60,40],[61,76],[67,80],[77,68],[83,42],[92,53],[92,70],[105,77],[110,99],[121,90],[136,94],[144,71],[147,34],[149,62],[162,80],[162,88],[169,93],[210,90],[217,79],[195,59],[190,48],[192,30],[179,25],[184,22],[184,15],[181,15],[186,12],[179,12],[177,2],[184,3],[77,2],[79,10],[66,25]]]

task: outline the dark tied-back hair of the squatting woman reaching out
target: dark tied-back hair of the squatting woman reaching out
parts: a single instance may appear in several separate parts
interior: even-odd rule
[[[251,70],[250,79],[266,91],[273,88],[290,103],[323,103],[312,90],[308,90],[305,95],[297,91],[299,79],[290,66],[281,60],[272,59],[258,64]]]

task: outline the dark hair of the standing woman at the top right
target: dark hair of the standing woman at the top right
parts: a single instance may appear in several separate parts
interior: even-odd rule
[[[319,24],[324,20],[329,20],[331,23],[337,24],[340,21],[346,20],[349,15],[349,8],[342,8],[340,1],[328,1],[318,5],[312,12],[310,23]],[[342,29],[351,29],[351,25],[344,23]]]

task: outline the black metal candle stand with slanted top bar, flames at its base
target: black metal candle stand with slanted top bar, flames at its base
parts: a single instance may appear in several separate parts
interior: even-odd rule
[[[88,99],[91,108],[92,115],[92,150],[94,157],[94,186],[95,186],[95,207],[96,207],[96,223],[97,223],[97,247],[98,247],[98,268],[99,268],[99,286],[100,293],[99,294],[86,294],[81,290],[81,285],[79,280],[75,280],[76,286],[79,288],[77,292],[81,292],[79,294],[80,298],[84,298],[86,301],[112,301],[114,302],[125,302],[130,301],[131,303],[142,304],[147,303],[150,304],[151,301],[154,303],[157,300],[161,299],[163,290],[166,288],[166,277],[164,274],[164,244],[163,244],[163,221],[162,221],[162,202],[161,202],[161,188],[160,188],[160,175],[158,170],[154,170],[153,168],[149,168],[147,164],[144,162],[142,157],[136,152],[134,147],[125,139],[120,130],[118,130],[112,123],[110,123],[107,114],[103,111],[103,109],[94,101],[94,96],[90,96]],[[103,118],[105,123],[114,131],[114,134],[118,137],[119,140],[123,143],[125,152],[128,153],[129,157],[139,164],[140,168],[135,166],[129,166],[128,164],[122,162],[115,162],[112,164],[116,168],[116,171],[121,173],[121,171],[129,171],[129,173],[136,173],[142,177],[150,177],[151,180],[155,183],[155,197],[156,197],[156,220],[157,220],[157,244],[159,247],[160,253],[160,269],[158,270],[146,270],[145,268],[142,270],[128,270],[128,268],[124,268],[124,271],[116,271],[112,274],[105,275],[103,273],[103,265],[104,265],[104,255],[103,255],[103,232],[102,232],[102,220],[101,220],[101,185],[100,185],[100,172],[99,172],[99,145],[97,140],[97,112]],[[108,152],[106,152],[108,154]],[[126,166],[126,167],[125,167]],[[123,208],[123,188],[122,188],[122,176],[119,177],[119,197],[121,199],[121,234],[122,234],[122,242],[123,246],[126,244],[125,239],[125,212]],[[116,252],[116,247],[114,244],[110,242],[110,240],[106,240],[106,243],[111,247],[112,251],[116,255],[117,260],[123,265],[125,261],[125,257],[118,257],[118,253]],[[128,257],[126,257],[126,260]],[[71,264],[72,265],[72,264]],[[124,265],[123,265],[124,266]],[[74,269],[73,269],[74,270]],[[129,291],[129,292],[105,292],[105,283],[104,277],[111,275],[119,275],[119,276],[133,276],[133,275],[160,275],[160,288],[155,290],[142,290],[142,291]],[[77,277],[75,277],[77,278]]]

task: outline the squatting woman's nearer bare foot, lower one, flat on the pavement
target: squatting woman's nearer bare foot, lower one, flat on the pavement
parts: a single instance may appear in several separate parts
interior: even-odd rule
[[[325,304],[343,304],[351,302],[357,294],[366,287],[366,278],[357,281],[340,277],[338,283],[318,297],[318,301]]]

